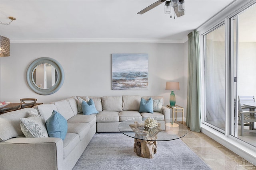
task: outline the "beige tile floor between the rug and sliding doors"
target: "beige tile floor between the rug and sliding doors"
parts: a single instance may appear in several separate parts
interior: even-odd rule
[[[256,170],[256,166],[203,133],[188,131],[181,140],[212,170]]]

